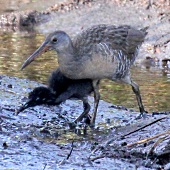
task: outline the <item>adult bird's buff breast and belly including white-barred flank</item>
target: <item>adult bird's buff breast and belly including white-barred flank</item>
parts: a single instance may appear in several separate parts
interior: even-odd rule
[[[121,79],[131,66],[122,50],[110,50],[105,44],[75,58],[62,57],[59,62],[61,72],[70,79]]]

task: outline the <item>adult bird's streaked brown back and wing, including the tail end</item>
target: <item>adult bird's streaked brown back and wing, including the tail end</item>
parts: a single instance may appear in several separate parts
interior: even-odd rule
[[[93,52],[104,55],[123,53],[129,60],[134,60],[137,49],[145,38],[143,30],[137,30],[127,25],[93,26],[79,34],[73,45],[77,56],[91,56]],[[116,51],[116,52],[115,52]]]

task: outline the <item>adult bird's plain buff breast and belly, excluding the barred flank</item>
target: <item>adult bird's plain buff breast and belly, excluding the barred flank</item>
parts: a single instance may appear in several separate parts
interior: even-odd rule
[[[71,79],[103,79],[110,78],[116,71],[117,61],[113,56],[93,54],[84,59],[59,64],[61,72]]]

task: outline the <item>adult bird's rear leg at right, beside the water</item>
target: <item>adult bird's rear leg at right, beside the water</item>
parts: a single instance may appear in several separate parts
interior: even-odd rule
[[[136,99],[137,99],[139,110],[140,110],[140,115],[138,117],[139,118],[145,117],[144,113],[146,113],[146,111],[145,111],[144,106],[142,104],[142,98],[141,98],[141,95],[140,95],[139,86],[132,80],[131,80],[131,86],[132,86],[133,92],[136,95]]]

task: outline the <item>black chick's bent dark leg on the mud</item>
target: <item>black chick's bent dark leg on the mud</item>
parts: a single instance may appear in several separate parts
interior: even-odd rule
[[[82,101],[83,101],[84,111],[83,111],[83,113],[74,121],[75,123],[81,121],[81,120],[83,119],[83,117],[85,117],[85,116],[89,113],[89,111],[90,111],[90,105],[89,105],[89,103],[88,103],[88,97],[84,97],[84,98],[82,99]]]

